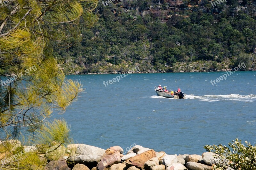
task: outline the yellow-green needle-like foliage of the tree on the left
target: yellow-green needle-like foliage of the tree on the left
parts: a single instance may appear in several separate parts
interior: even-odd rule
[[[59,160],[71,139],[64,120],[48,122],[53,111],[64,112],[82,85],[67,80],[53,58],[68,37],[78,37],[80,18],[90,26],[97,0],[0,1],[0,163],[1,169],[43,169],[46,160]],[[55,43],[53,43],[55,42]],[[14,75],[1,71],[11,68]],[[26,145],[40,144],[24,152]],[[14,140],[13,140],[14,139]],[[58,152],[57,152],[58,151]]]

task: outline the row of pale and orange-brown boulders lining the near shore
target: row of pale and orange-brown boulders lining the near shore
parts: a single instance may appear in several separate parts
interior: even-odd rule
[[[86,144],[69,144],[66,156],[60,161],[48,162],[44,170],[212,170],[220,163],[217,157],[212,152],[168,155],[140,145],[124,154],[120,146],[104,150]]]

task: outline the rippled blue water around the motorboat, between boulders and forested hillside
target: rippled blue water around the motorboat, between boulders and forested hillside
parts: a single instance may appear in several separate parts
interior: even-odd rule
[[[76,143],[103,149],[142,145],[168,154],[202,154],[206,144],[235,138],[256,144],[256,72],[235,72],[212,86],[225,72],[130,74],[119,82],[109,75],[71,75],[86,88],[62,115]],[[156,96],[161,84],[187,94],[186,99]]]

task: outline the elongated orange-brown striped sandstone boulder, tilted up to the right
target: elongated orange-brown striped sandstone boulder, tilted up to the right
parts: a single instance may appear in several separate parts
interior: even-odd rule
[[[149,160],[156,157],[156,152],[151,149],[149,151],[143,152],[132,157],[127,163],[126,166],[136,166],[141,169],[144,168],[145,163]]]

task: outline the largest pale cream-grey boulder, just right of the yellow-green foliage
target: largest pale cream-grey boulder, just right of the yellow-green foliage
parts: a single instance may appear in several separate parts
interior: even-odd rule
[[[70,153],[70,158],[67,159],[69,163],[84,164],[90,169],[97,166],[105,153],[104,149],[86,144],[72,144],[68,145],[67,148]]]

